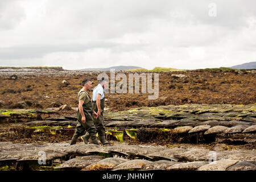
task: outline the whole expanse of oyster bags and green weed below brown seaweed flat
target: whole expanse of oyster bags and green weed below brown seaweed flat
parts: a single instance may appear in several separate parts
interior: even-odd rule
[[[188,104],[106,111],[106,138],[114,143],[103,147],[69,146],[76,115],[2,109],[0,165],[7,170],[255,170],[255,109],[254,104]],[[41,153],[44,165],[38,163]]]

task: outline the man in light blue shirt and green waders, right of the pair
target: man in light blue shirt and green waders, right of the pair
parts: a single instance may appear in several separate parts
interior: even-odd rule
[[[92,104],[93,104],[93,110],[96,111],[97,116],[94,118],[94,125],[96,126],[96,130],[98,133],[98,138],[101,141],[102,145],[109,144],[112,142],[106,141],[105,138],[105,127],[104,127],[104,107],[105,107],[105,96],[104,96],[104,86],[108,83],[108,80],[102,80],[99,82],[99,84],[93,89],[92,94]],[[89,133],[86,132],[84,137],[84,142],[88,143],[88,139],[90,138]]]

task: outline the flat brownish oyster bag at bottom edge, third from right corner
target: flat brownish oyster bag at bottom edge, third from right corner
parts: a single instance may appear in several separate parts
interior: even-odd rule
[[[167,167],[167,170],[196,170],[197,168],[204,166],[208,164],[208,162],[205,161],[196,161],[196,162],[188,162],[188,163],[180,163],[180,164],[174,164],[170,167]]]

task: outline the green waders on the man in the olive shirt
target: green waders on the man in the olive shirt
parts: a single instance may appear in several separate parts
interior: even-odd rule
[[[84,91],[81,91],[81,92],[84,92]],[[90,99],[89,94],[87,94],[87,95]],[[90,100],[87,104],[84,103],[82,105],[82,108],[84,110],[85,123],[82,122],[82,116],[81,116],[81,114],[78,110],[77,111],[77,121],[79,123],[77,123],[77,125],[76,125],[76,131],[73,135],[72,140],[73,139],[76,140],[80,136],[84,135],[84,132],[86,131],[86,134],[88,134],[89,137],[94,141],[93,143],[97,144],[97,142],[96,142],[96,140],[97,140],[97,137],[96,137],[97,131],[96,131],[96,127],[93,124],[93,117],[92,117],[92,108],[93,108],[92,107],[92,101]],[[82,137],[84,137],[84,136],[82,136]],[[71,144],[75,144],[75,143],[71,142]]]

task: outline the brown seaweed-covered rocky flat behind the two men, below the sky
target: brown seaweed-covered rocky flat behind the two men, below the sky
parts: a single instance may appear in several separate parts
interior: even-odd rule
[[[100,72],[81,71],[1,71],[0,108],[46,109],[69,105],[77,107],[77,93],[84,78],[97,85]],[[116,72],[118,73],[118,72]],[[129,77],[128,72],[123,72]],[[110,73],[107,72],[110,78]],[[176,77],[172,75],[184,75]],[[16,77],[11,77],[16,75]],[[63,80],[67,82],[63,83]],[[117,83],[118,81],[116,81]],[[183,104],[254,104],[255,73],[248,71],[159,72],[159,98],[148,94],[106,94],[110,110],[132,107]],[[151,94],[150,94],[151,95]]]

